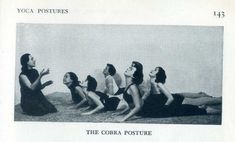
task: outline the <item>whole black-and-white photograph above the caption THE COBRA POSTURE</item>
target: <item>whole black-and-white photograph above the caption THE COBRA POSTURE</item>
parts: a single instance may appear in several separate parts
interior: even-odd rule
[[[17,23],[15,122],[222,124],[223,26]]]

